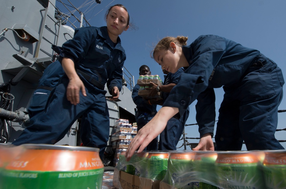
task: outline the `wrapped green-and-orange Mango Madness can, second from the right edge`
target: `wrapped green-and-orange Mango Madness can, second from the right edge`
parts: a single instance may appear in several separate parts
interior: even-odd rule
[[[260,160],[251,151],[218,152],[215,163],[220,188],[264,188]]]

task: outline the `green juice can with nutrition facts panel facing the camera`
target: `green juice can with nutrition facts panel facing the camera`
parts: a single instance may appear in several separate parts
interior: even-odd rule
[[[168,166],[169,152],[149,152],[146,158],[146,178],[152,180],[162,180],[166,174]]]

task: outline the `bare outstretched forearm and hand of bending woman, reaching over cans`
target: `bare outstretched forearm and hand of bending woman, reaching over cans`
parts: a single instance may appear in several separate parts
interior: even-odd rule
[[[162,107],[157,114],[142,129],[138,131],[132,139],[125,157],[130,160],[134,152],[139,148],[138,152],[142,152],[144,148],[156,138],[166,127],[166,124],[172,116],[179,112],[178,108]]]

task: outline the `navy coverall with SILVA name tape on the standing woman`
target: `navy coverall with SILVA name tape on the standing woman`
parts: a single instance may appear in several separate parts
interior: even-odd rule
[[[72,124],[82,117],[80,135],[84,146],[100,149],[100,157],[109,138],[109,113],[104,85],[108,91],[117,86],[122,89],[122,67],[126,54],[120,38],[113,43],[108,36],[107,27],[82,27],[75,30],[74,38],[62,47],[53,47],[63,57],[72,59],[80,79],[84,83],[87,96],[80,91],[80,103],[71,104],[66,97],[69,79],[61,77],[52,90],[45,110],[31,118],[31,125],[13,142],[15,145],[55,144],[61,140]],[[96,82],[94,82],[96,80]]]

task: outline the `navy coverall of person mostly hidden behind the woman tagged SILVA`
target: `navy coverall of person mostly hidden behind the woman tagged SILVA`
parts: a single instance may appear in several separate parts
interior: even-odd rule
[[[30,105],[27,108],[29,118],[44,111],[51,90],[57,85],[59,78],[64,74],[65,72],[59,61],[51,63],[44,70],[41,79],[39,79],[38,87],[31,98]]]

